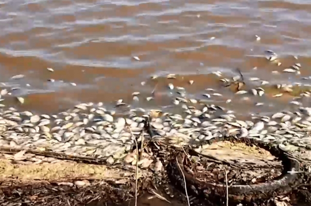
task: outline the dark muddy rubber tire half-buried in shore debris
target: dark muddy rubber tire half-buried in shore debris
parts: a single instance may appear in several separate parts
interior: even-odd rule
[[[292,191],[295,185],[298,184],[298,175],[297,173],[294,173],[294,171],[298,171],[299,163],[293,159],[290,159],[279,147],[267,143],[259,143],[247,138],[218,138],[208,141],[207,144],[216,143],[219,141],[245,143],[249,146],[255,145],[259,148],[269,151],[273,156],[281,161],[283,165],[282,174],[267,182],[248,185],[229,185],[228,199],[230,204],[234,203],[236,205],[236,203],[244,203],[249,205],[248,203],[262,202],[263,200],[270,199],[276,195],[287,194]],[[191,152],[191,150],[188,150],[188,152]],[[183,178],[184,174],[189,195],[196,196],[200,199],[203,198],[205,201],[207,201],[209,206],[223,205],[226,199],[225,183],[214,183],[208,181],[208,179],[206,179],[206,181],[200,180],[196,177],[195,172],[187,172],[187,170],[185,170],[185,159],[187,159],[185,153],[181,152],[177,158],[172,159],[172,161],[168,164],[167,172],[171,182],[182,192],[185,192]]]

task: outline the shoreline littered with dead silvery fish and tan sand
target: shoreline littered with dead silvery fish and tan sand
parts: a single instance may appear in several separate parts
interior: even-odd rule
[[[22,98],[18,100],[23,103]],[[169,183],[170,178],[166,174],[169,157],[182,152],[181,149],[185,151],[199,145],[204,147],[207,142],[222,138],[246,138],[278,146],[299,159],[305,168],[311,164],[311,108],[297,107],[292,112],[282,111],[271,116],[257,114],[250,116],[251,120],[242,120],[224,107],[189,101],[190,103],[181,103],[183,112],[180,114],[160,110],[146,111],[142,108],[129,109],[119,114],[105,109],[103,103],[82,103],[53,115],[17,111],[14,108],[1,109],[0,154],[10,161],[6,165],[1,160],[4,168],[0,173],[1,185],[12,188],[12,191],[19,188],[26,193],[31,185],[37,187],[37,192],[39,188],[51,185],[55,188],[45,190],[65,191],[63,187],[66,186],[66,191],[70,194],[74,188],[77,192],[81,189],[84,193],[85,188],[90,187],[94,192],[100,192],[98,195],[102,199],[107,194],[101,193],[97,186],[104,184],[111,189],[109,191],[128,193],[130,199],[135,193],[133,175],[139,168],[142,172],[139,194],[148,191],[152,185],[158,184],[155,188],[162,188],[162,180],[166,181],[164,185],[167,188],[176,190]],[[121,101],[119,106],[123,106]],[[139,157],[136,157],[136,141],[140,145]],[[162,148],[158,144],[166,145],[163,152],[169,151],[168,156],[158,151]],[[157,151],[156,154],[154,150]],[[12,161],[15,169],[12,169]],[[59,161],[66,163],[65,166],[60,166],[62,163]],[[42,166],[44,164],[47,165]],[[97,164],[100,166],[96,166]],[[62,167],[66,169],[61,169]],[[60,170],[66,175],[62,176],[58,172]],[[120,178],[108,177],[104,173],[106,170],[108,174],[120,175]],[[66,185],[59,185],[63,180]],[[23,185],[24,183],[27,184]],[[296,189],[297,186],[293,188]],[[182,191],[179,192],[181,193],[177,192],[177,196],[185,203],[185,196]],[[71,201],[69,196],[63,198],[65,199],[62,201]],[[81,201],[86,204],[93,198],[95,197]],[[118,198],[115,201],[120,202],[120,197]],[[252,201],[247,204],[251,203]],[[266,202],[258,204],[263,203]],[[73,201],[72,204],[76,202]],[[196,204],[200,205],[201,202]]]

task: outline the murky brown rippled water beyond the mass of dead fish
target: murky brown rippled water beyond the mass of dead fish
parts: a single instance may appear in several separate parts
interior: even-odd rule
[[[174,94],[166,87],[172,82],[195,98],[214,88],[224,96],[210,102],[226,105],[230,98],[226,107],[247,114],[290,108],[291,98],[249,95],[242,101],[212,72],[232,77],[240,67],[245,79],[311,84],[301,80],[311,75],[308,0],[2,0],[0,19],[0,81],[21,88],[13,95],[26,98],[22,109],[55,112],[79,102],[113,105],[120,98],[132,104],[134,91],[141,92],[134,106],[159,108],[172,105]],[[282,65],[270,63],[266,49],[275,51]],[[301,63],[300,76],[271,73],[293,63]],[[177,79],[150,79],[169,73]],[[25,77],[10,79],[18,74]],[[158,95],[147,102],[156,81]]]

